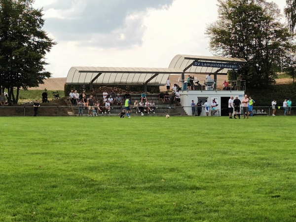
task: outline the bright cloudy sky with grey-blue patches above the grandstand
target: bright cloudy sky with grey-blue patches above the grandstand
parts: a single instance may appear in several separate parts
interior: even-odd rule
[[[281,12],[285,0],[275,2]],[[35,0],[43,29],[57,42],[46,71],[67,77],[73,66],[168,68],[177,54],[212,56],[207,25],[217,0]],[[285,18],[281,20],[286,22]]]

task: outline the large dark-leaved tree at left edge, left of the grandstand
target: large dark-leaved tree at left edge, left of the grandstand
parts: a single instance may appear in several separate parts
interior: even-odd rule
[[[56,42],[42,30],[42,10],[34,0],[0,0],[0,85],[8,89],[8,101],[18,101],[19,89],[36,87],[50,77],[45,55]],[[16,97],[13,88],[17,89]]]

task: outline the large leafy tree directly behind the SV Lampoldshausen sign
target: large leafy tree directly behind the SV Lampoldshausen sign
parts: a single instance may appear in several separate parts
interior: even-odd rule
[[[206,35],[219,56],[244,58],[247,64],[230,72],[250,86],[267,85],[292,45],[292,34],[279,22],[280,10],[265,0],[218,0],[219,20]]]

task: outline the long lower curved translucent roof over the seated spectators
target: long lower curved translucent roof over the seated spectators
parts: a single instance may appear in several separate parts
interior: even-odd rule
[[[171,68],[72,67],[66,84],[164,85],[170,74],[181,74]]]

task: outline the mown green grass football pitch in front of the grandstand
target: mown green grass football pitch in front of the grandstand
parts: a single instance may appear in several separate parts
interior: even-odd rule
[[[0,117],[1,222],[295,222],[296,117]]]

